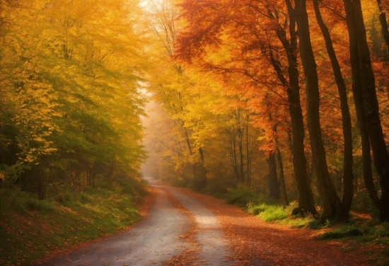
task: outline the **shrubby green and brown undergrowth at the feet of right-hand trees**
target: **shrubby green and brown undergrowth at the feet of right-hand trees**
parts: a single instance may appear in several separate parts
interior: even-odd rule
[[[379,214],[371,204],[367,192],[354,197],[348,221],[326,220],[321,222],[312,215],[292,215],[298,207],[296,201],[287,206],[259,197],[254,192],[238,186],[229,189],[226,202],[245,208],[245,212],[269,223],[290,226],[294,229],[312,229],[320,241],[342,243],[344,252],[363,250],[371,265],[389,265],[389,223],[379,221]],[[321,212],[320,207],[318,211]]]

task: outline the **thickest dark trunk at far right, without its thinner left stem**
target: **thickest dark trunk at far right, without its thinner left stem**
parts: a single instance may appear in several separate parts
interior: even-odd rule
[[[368,139],[370,139],[371,149],[373,150],[374,164],[380,177],[380,219],[381,221],[389,221],[389,154],[386,149],[385,139],[383,138],[376,94],[376,80],[371,67],[361,1],[344,0],[343,2],[350,37],[350,57],[352,57],[350,61],[352,62],[354,74],[353,82],[354,79],[356,81],[359,79],[359,88],[361,89],[361,94],[354,98],[361,98],[362,101],[359,104],[364,108],[364,118],[360,117],[360,119],[364,119],[366,122]],[[370,183],[370,180],[368,182]],[[375,200],[374,198],[375,196],[373,196],[373,201]]]

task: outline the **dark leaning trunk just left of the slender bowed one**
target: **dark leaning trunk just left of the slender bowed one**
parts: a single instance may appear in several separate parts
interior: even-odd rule
[[[330,178],[327,159],[320,128],[319,85],[315,57],[310,43],[310,31],[306,0],[295,1],[298,39],[300,40],[300,56],[306,79],[308,132],[313,151],[313,161],[318,173],[318,187],[323,205],[323,219],[334,219],[341,214],[340,199]]]

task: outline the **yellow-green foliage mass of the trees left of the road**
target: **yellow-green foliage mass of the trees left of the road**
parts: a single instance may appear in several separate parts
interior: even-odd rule
[[[17,2],[1,4],[4,184],[14,186],[31,166],[83,175],[97,164],[139,170],[146,158],[139,82],[147,59],[139,6],[123,0]]]

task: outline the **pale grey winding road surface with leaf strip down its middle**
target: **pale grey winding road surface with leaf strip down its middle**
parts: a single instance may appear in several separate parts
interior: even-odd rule
[[[148,181],[156,201],[141,224],[37,265],[232,265],[216,216],[197,199]]]

